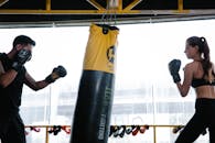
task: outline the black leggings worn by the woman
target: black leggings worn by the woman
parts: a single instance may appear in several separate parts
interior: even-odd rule
[[[206,128],[209,131],[209,143],[215,143],[215,99],[200,98],[195,102],[195,114],[175,143],[193,143]]]

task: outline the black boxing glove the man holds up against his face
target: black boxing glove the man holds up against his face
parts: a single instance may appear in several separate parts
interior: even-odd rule
[[[13,64],[12,64],[12,69],[15,72],[19,72],[20,68],[24,65],[25,62],[31,59],[31,51],[28,50],[21,50],[14,57]]]

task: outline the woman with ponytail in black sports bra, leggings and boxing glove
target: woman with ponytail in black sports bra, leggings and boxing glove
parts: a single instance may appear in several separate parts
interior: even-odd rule
[[[182,84],[179,76],[181,62],[173,59],[169,63],[169,69],[182,97],[187,96],[191,86],[195,89],[195,113],[175,143],[193,143],[206,128],[209,143],[215,143],[215,70],[205,37],[189,37],[184,53],[193,62],[185,65]]]

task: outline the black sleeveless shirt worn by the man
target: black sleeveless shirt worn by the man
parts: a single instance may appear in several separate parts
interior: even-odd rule
[[[6,53],[0,53],[0,61],[4,72],[11,69],[12,61]],[[3,117],[17,114],[21,106],[22,88],[25,68],[22,67],[14,80],[6,88],[0,86],[0,114]]]

